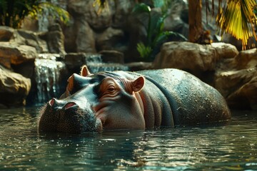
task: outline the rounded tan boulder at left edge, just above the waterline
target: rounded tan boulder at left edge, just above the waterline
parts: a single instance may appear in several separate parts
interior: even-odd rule
[[[6,106],[25,105],[31,81],[19,73],[13,73],[0,66],[0,103]]]

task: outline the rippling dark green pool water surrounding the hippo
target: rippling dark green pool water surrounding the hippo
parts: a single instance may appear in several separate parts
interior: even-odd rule
[[[257,170],[257,111],[223,126],[84,135],[39,135],[37,118],[0,110],[0,170]]]

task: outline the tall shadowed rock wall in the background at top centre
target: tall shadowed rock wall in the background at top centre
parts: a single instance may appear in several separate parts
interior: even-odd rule
[[[152,6],[150,1],[144,2]],[[141,61],[136,44],[146,41],[148,16],[131,14],[136,1],[109,0],[103,10],[94,0],[67,0],[61,4],[71,14],[70,24],[63,26],[67,53],[118,51],[124,53],[125,62]],[[187,8],[184,1],[176,1],[168,11],[164,29],[187,37],[188,24],[181,19],[181,12]],[[151,13],[160,16],[161,10],[153,8]]]

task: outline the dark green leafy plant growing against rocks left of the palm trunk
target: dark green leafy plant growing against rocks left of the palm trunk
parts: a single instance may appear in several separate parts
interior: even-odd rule
[[[175,33],[173,31],[163,31],[164,19],[166,19],[171,2],[172,0],[153,1],[154,6],[161,8],[161,16],[153,16],[153,14],[151,14],[150,6],[143,3],[136,4],[136,6],[133,8],[133,14],[148,14],[146,42],[139,42],[137,44],[137,51],[141,58],[143,58],[145,61],[152,61],[161,44],[170,36],[180,36],[186,41],[186,38],[179,33]]]

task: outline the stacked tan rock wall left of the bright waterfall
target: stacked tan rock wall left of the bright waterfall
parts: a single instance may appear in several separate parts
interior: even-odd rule
[[[47,32],[0,26],[1,104],[26,104],[27,96],[36,88],[34,61],[41,53],[64,55],[64,34],[58,24]],[[31,98],[35,101],[36,97]]]

